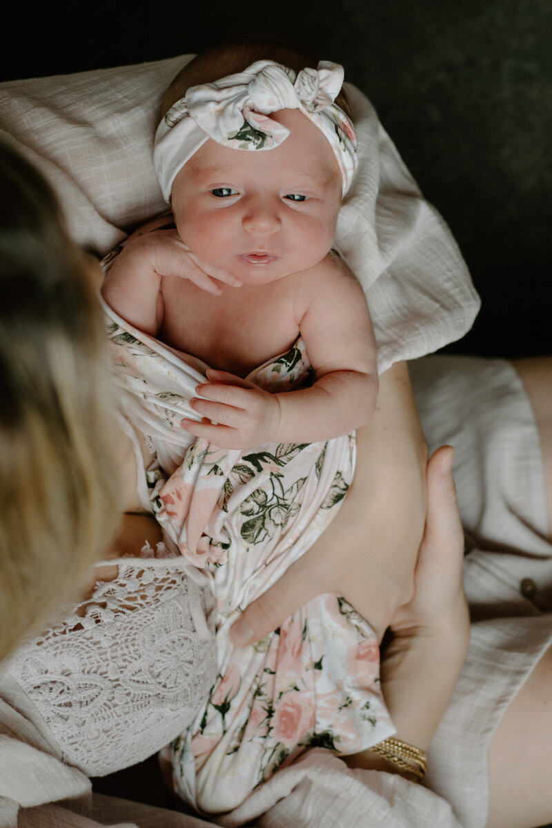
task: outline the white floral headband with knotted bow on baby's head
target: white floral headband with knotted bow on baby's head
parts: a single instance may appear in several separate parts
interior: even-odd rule
[[[156,132],[153,162],[166,201],[177,173],[209,138],[238,150],[270,150],[290,134],[270,113],[299,109],[328,139],[343,177],[343,195],[358,166],[353,124],[334,99],[343,66],[321,60],[298,74],[273,60],[257,60],[214,84],[192,86],[166,113]]]

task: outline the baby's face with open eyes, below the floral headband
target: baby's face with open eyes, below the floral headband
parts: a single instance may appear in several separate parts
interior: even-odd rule
[[[246,284],[313,267],[334,243],[342,178],[323,133],[295,109],[272,113],[290,135],[271,150],[209,139],[172,188],[176,229],[193,253]]]

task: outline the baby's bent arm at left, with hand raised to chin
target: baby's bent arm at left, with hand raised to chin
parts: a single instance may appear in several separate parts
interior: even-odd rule
[[[165,224],[167,221],[170,219],[165,219]],[[175,229],[147,232],[148,226],[128,239],[113,259],[102,286],[108,306],[145,334],[156,336],[163,321],[162,277],[189,279],[214,295],[221,292],[215,279],[236,287],[242,284],[221,267],[209,265],[190,253]]]

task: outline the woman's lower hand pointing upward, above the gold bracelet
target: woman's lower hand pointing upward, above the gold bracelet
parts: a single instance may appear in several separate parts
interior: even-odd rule
[[[382,691],[396,735],[427,750],[468,649],[469,614],[463,594],[463,530],[452,464],[443,446],[428,465],[428,511],[415,570],[415,591],[396,612],[382,653]],[[391,766],[370,750],[345,758],[350,767]]]

